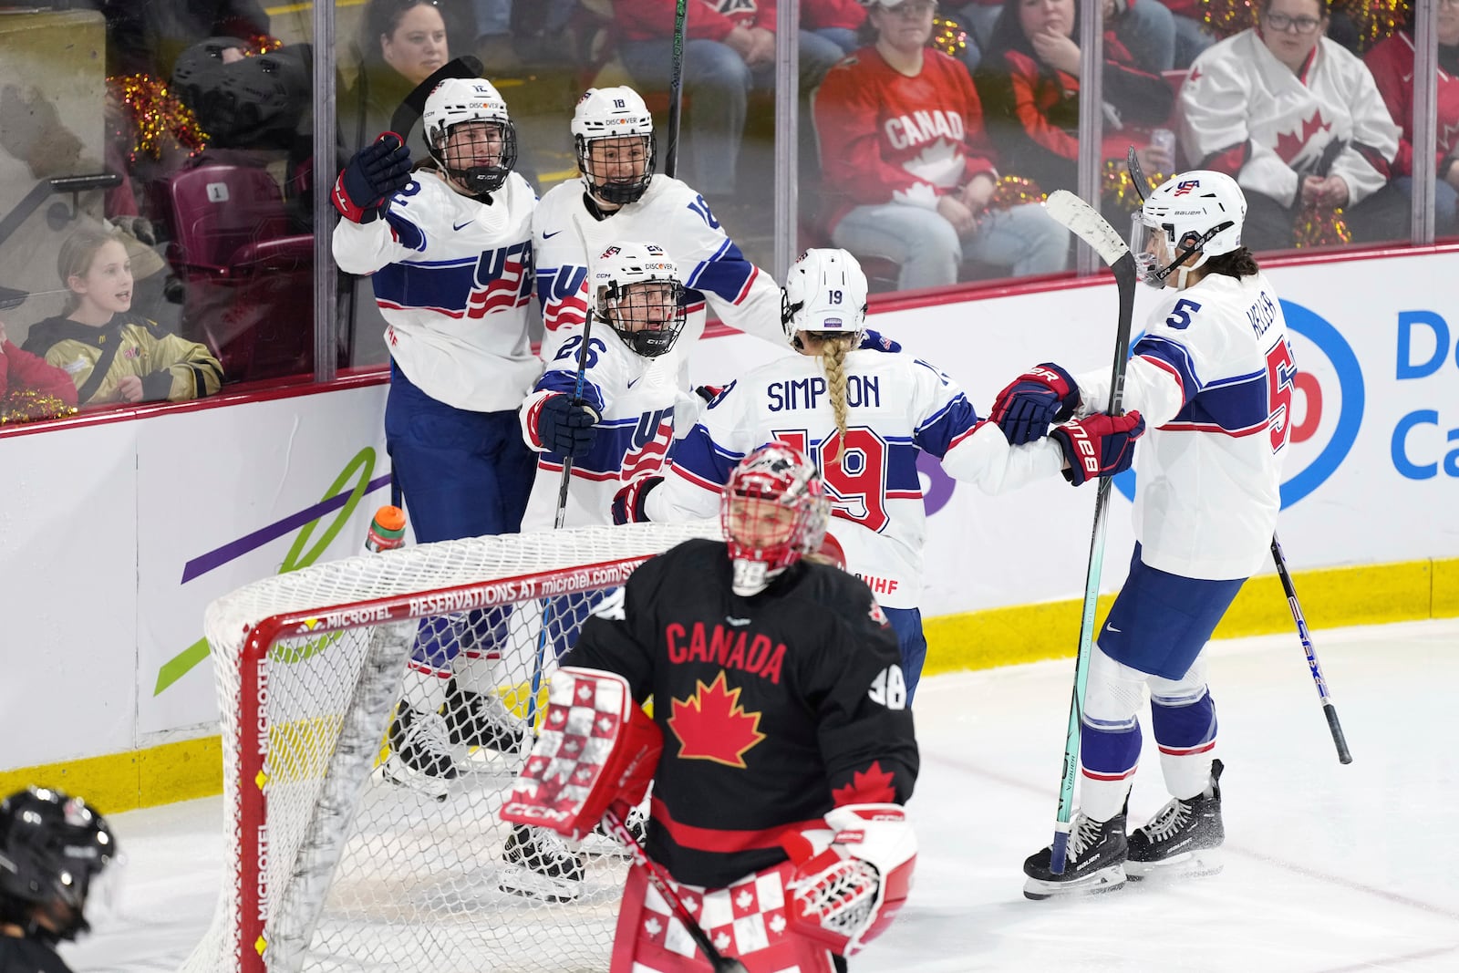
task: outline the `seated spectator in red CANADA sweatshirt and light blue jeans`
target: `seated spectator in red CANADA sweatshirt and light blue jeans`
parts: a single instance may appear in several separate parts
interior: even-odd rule
[[[1037,204],[991,209],[998,172],[967,70],[926,47],[932,0],[878,0],[874,42],[816,95],[832,242],[902,265],[900,289],[957,280],[964,258],[1064,270],[1069,239]]]

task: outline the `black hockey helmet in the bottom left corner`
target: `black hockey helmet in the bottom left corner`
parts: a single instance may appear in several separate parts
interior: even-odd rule
[[[0,802],[0,919],[31,925],[45,910],[42,938],[74,939],[92,883],[117,858],[107,820],[80,798],[28,788]],[[60,906],[60,907],[57,907]]]

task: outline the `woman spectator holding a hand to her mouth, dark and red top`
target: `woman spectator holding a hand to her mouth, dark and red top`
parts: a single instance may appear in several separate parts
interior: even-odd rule
[[[1004,172],[1033,179],[1045,193],[1074,190],[1078,178],[1078,29],[1075,0],[1007,0],[975,79]],[[1174,98],[1110,34],[1103,83],[1106,156],[1123,159],[1126,144],[1148,142],[1129,128],[1164,123]],[[1157,146],[1141,147],[1139,162],[1147,174],[1170,172],[1174,163]]]

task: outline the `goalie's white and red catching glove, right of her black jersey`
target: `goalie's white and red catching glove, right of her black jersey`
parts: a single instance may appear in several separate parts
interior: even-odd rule
[[[837,955],[855,955],[891,925],[912,888],[916,834],[900,804],[846,804],[830,830],[781,839],[795,862],[785,890],[791,928]]]

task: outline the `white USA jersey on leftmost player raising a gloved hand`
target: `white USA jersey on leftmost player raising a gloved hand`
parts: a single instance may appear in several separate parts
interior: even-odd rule
[[[515,410],[541,372],[527,334],[535,204],[515,172],[487,206],[417,169],[385,219],[334,228],[334,261],[374,274],[390,354],[432,398]]]

